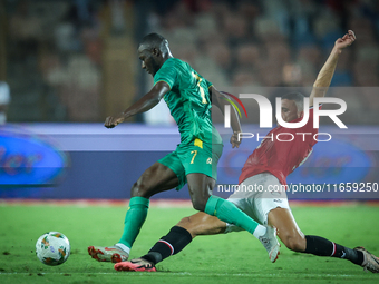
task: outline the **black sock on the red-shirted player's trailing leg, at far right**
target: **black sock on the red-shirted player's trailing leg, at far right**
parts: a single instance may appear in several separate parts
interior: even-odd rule
[[[304,253],[307,254],[349,259],[358,265],[363,263],[362,252],[344,247],[319,236],[305,236],[305,239],[307,248]]]

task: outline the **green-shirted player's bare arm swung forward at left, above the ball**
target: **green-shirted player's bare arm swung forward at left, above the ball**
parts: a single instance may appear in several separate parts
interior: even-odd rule
[[[154,108],[156,105],[158,105],[158,102],[167,91],[169,91],[168,84],[165,81],[158,81],[149,92],[147,92],[144,97],[134,102],[125,111],[123,111],[118,116],[108,116],[105,120],[104,126],[107,128],[114,128],[130,116],[145,112]]]

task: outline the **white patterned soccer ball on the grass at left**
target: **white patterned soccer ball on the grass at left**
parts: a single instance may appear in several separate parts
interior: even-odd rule
[[[46,265],[62,264],[70,255],[70,242],[59,232],[46,233],[37,241],[36,254],[38,259]]]

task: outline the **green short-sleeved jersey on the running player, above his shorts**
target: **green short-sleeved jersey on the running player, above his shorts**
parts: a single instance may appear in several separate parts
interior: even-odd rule
[[[167,82],[171,88],[164,100],[179,128],[181,143],[198,138],[205,143],[222,144],[212,124],[211,82],[177,58],[169,58],[163,63],[154,76],[154,85],[158,81]]]

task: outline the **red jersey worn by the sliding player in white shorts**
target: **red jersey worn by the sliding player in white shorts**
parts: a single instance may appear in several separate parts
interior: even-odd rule
[[[299,123],[302,118],[292,120]],[[313,128],[313,108],[310,108],[308,123],[300,128],[278,126],[272,129],[261,145],[251,154],[242,168],[239,183],[251,176],[269,172],[282,185],[286,185],[286,176],[299,167],[313,150],[318,134]]]

